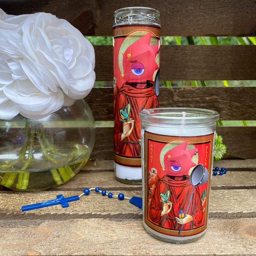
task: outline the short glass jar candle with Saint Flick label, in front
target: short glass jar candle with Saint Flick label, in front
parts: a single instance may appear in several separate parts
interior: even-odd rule
[[[207,229],[216,111],[140,112],[143,225],[163,241],[195,241]]]

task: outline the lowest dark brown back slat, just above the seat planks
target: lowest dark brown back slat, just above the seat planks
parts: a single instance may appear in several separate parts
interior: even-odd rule
[[[217,126],[217,133],[223,137],[227,154],[255,158],[256,126]],[[90,159],[113,159],[113,128],[96,128],[96,142]]]

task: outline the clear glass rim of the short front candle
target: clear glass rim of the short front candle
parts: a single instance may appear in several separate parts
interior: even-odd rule
[[[202,108],[151,108],[140,111],[139,117],[142,122],[199,124],[218,121],[219,113]]]

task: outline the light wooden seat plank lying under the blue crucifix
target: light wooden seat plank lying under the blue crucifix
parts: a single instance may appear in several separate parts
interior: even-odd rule
[[[81,191],[82,193],[83,191]],[[109,191],[110,192],[110,191]],[[140,191],[116,192],[125,193],[125,196],[142,196]],[[79,192],[80,193],[80,192]],[[58,195],[69,197],[78,195],[77,192],[58,191]],[[80,195],[81,195],[80,193]],[[114,193],[114,191],[113,191]],[[133,215],[142,218],[140,208],[130,204],[128,200],[119,201],[117,198],[109,199],[101,194],[91,192],[82,196],[79,201],[70,202],[70,207],[62,208],[61,205],[21,211],[21,206],[44,202],[56,198],[56,191],[45,192],[0,192],[1,219],[60,219],[64,218],[133,218]],[[221,198],[221,200],[220,200]],[[247,198],[247,200],[245,200]],[[212,190],[209,202],[209,216],[212,218],[256,217],[256,189]],[[232,204],[230,203],[232,202]],[[80,216],[79,216],[80,215]],[[136,217],[136,218],[137,218]]]

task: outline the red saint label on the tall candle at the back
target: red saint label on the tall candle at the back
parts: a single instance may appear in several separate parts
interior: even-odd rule
[[[140,119],[143,109],[158,107],[160,28],[113,29],[114,160],[140,167]]]

